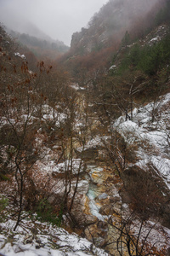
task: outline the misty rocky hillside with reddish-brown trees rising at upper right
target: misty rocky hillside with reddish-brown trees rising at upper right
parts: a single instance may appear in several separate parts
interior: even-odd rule
[[[61,58],[81,86],[111,67],[116,52],[138,42],[156,26],[169,20],[169,1],[109,1],[95,14],[88,27],[72,35],[71,49]],[[95,82],[94,82],[95,83]]]

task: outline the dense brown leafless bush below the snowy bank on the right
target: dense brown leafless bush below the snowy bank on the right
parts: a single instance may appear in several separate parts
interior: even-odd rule
[[[128,167],[122,175],[125,193],[130,196],[130,205],[141,218],[148,219],[152,215],[160,217],[161,205],[166,198],[158,186],[159,177],[151,168],[144,171],[139,166]],[[161,178],[160,178],[161,179]],[[161,183],[161,181],[159,181]]]

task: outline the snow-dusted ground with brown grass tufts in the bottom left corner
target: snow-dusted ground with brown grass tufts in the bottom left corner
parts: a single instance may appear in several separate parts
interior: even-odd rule
[[[8,229],[6,234],[0,235],[0,253],[5,256],[108,255],[102,249],[94,247],[90,241],[76,234],[69,234],[61,228],[35,221],[35,219],[32,221],[34,217],[25,218],[20,229],[18,228],[15,232],[12,231],[14,221],[8,220],[5,224],[0,224],[2,230],[4,227]],[[31,229],[36,229],[37,233],[31,233]]]

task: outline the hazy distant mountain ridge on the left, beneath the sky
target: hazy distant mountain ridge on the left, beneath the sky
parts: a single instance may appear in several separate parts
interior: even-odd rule
[[[25,17],[12,15],[10,19],[2,17],[5,30],[22,46],[29,48],[37,58],[48,57],[55,59],[58,55],[68,51],[69,47],[59,40],[50,38]]]

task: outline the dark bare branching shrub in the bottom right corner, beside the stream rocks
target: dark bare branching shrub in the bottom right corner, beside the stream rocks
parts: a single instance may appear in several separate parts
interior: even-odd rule
[[[166,236],[157,221],[141,220],[132,212],[116,220],[110,218],[108,225],[106,244],[111,252],[117,251],[120,256],[166,255]]]

